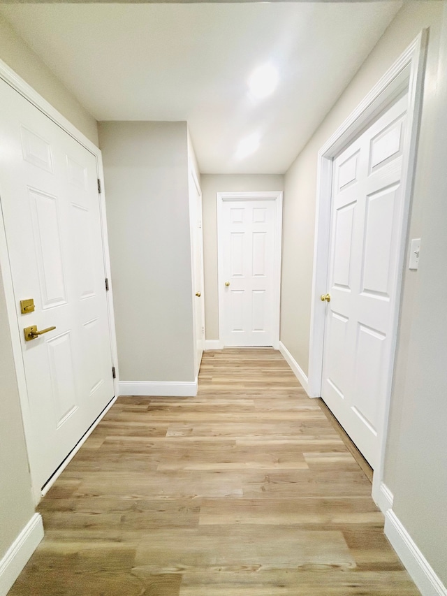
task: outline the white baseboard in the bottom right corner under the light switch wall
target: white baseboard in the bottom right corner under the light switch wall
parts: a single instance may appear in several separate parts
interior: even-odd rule
[[[423,596],[447,596],[447,588],[413,542],[393,509],[385,516],[385,535]]]

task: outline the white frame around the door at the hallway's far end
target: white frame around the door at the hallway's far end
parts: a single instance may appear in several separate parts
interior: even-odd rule
[[[217,283],[219,284],[219,337],[221,345],[223,333],[224,283],[223,279],[223,201],[274,201],[276,224],[274,229],[274,295],[273,295],[273,347],[279,349],[279,314],[281,305],[281,247],[282,247],[282,191],[218,192],[217,193]]]

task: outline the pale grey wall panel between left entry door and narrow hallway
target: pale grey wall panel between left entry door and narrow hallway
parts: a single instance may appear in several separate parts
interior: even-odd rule
[[[186,122],[100,122],[120,381],[193,381]]]

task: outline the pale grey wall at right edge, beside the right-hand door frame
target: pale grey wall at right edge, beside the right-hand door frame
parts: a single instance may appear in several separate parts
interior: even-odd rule
[[[441,39],[439,87],[429,91],[433,126],[418,166],[420,265],[386,478],[393,511],[447,588],[447,2]]]

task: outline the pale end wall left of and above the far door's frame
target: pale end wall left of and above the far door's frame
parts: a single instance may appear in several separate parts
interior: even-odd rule
[[[202,174],[203,257],[205,269],[205,330],[207,340],[219,340],[217,287],[217,193],[275,191],[283,189],[283,177],[269,174]]]

